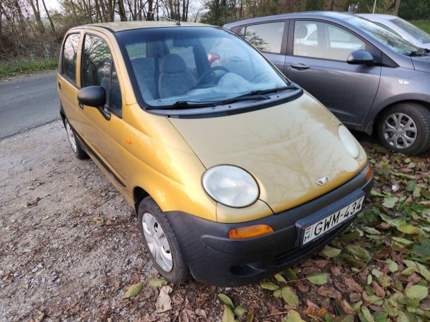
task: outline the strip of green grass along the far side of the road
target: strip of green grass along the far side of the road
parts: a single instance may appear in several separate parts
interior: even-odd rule
[[[0,80],[23,73],[37,73],[39,71],[53,71],[58,66],[58,59],[40,60],[12,60],[0,62]]]

